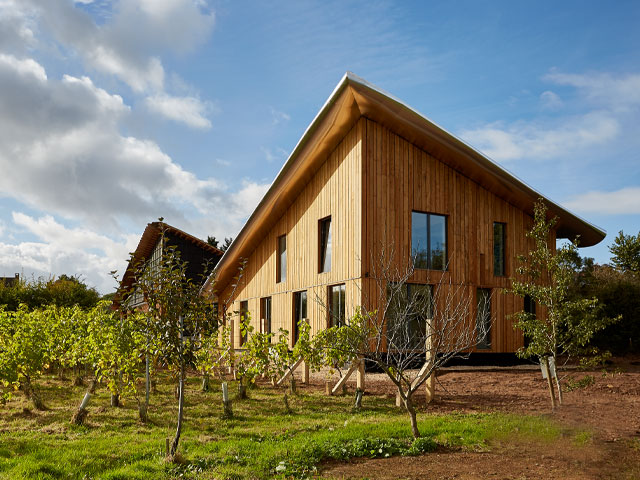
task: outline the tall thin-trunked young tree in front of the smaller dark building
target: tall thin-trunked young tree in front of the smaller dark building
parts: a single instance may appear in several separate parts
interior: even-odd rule
[[[182,432],[186,369],[194,364],[207,335],[217,328],[213,303],[200,295],[200,287],[187,276],[187,263],[179,252],[167,245],[157,262],[136,277],[135,288],[147,302],[150,331],[158,340],[158,357],[178,372],[178,421],[170,457],[177,451]]]

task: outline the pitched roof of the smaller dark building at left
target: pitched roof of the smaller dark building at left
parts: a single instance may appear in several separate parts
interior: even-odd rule
[[[167,234],[183,238],[200,247],[202,250],[210,252],[213,255],[217,255],[218,257],[223,255],[222,250],[209,245],[207,242],[200,240],[199,238],[196,238],[193,235],[180,230],[179,228],[172,227],[171,225],[168,225],[164,222],[148,223],[146,228],[144,229],[144,232],[142,233],[142,237],[140,237],[140,242],[138,242],[138,246],[136,247],[135,252],[133,252],[132,257],[129,260],[127,269],[122,276],[120,287],[118,288],[118,291],[114,298],[114,304],[118,303],[121,299],[121,296],[126,294],[126,292],[130,290],[133,282],[135,281],[136,266],[139,262],[143,262],[149,259],[163,231]]]

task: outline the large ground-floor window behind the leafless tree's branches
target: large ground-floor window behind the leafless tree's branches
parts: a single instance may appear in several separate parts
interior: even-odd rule
[[[387,346],[390,350],[423,350],[433,316],[433,285],[389,284]]]

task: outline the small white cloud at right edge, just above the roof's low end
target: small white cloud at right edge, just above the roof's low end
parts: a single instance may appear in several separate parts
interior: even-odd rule
[[[625,187],[612,192],[590,191],[564,202],[576,212],[607,215],[640,214],[640,187]]]

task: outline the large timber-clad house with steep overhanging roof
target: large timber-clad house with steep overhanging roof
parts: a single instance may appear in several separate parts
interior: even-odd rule
[[[250,312],[256,329],[294,332],[293,342],[300,319],[313,333],[343,322],[357,306],[375,309],[371,275],[392,246],[398,264],[416,258],[415,288],[450,282],[464,285],[473,304],[489,302],[490,318],[470,318],[491,322],[478,351],[514,352],[523,337],[508,316],[534,305],[502,289],[516,274],[517,256],[528,251],[525,232],[539,198],[559,219],[557,238],[579,236],[582,246],[604,238],[402,101],[347,73],[204,288],[227,312]]]

